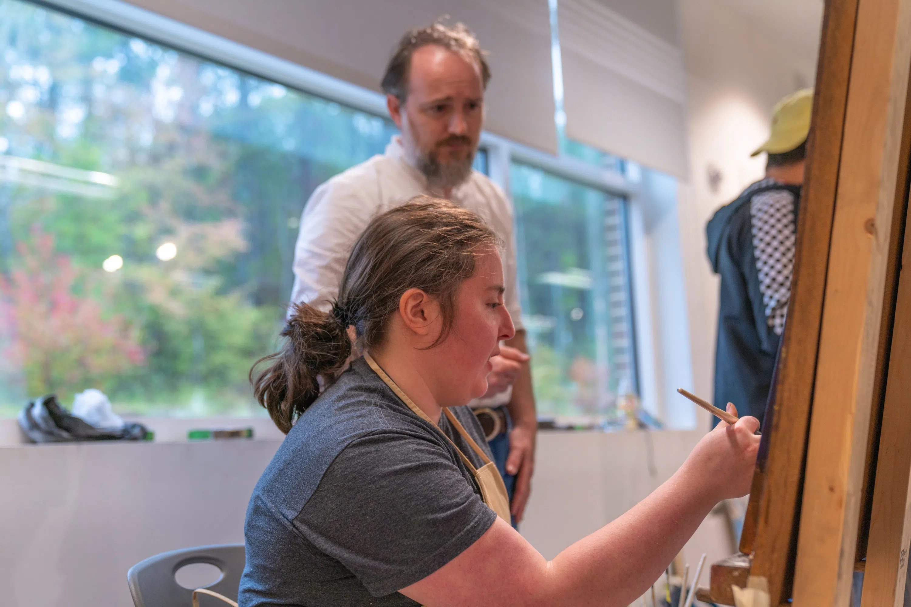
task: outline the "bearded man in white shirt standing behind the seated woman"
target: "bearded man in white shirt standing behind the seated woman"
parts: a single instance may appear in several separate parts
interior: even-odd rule
[[[485,53],[465,25],[407,32],[383,76],[389,115],[401,135],[385,153],[318,187],[303,208],[294,251],[292,301],[329,309],[344,265],[371,218],[418,194],[445,197],[476,212],[506,244],[505,303],[516,337],[492,359],[486,398],[477,404],[496,466],[520,521],[534,469],[537,417],[518,303],[512,206],[472,170],[490,79]],[[508,414],[507,414],[508,412]],[[514,491],[513,491],[514,490]]]

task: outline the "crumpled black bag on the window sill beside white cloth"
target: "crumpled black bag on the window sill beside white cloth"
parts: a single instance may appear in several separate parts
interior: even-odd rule
[[[148,433],[146,427],[138,423],[126,423],[123,428],[96,428],[61,407],[53,394],[30,400],[16,419],[32,442],[143,440]]]

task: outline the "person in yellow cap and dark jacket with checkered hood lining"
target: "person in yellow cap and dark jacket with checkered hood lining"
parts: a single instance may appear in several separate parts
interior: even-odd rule
[[[721,277],[714,402],[763,420],[791,296],[797,206],[804,183],[813,90],[775,106],[765,177],[720,208],[706,228]]]

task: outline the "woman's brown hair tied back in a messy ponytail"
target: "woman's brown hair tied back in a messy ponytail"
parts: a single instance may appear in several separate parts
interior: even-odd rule
[[[439,300],[444,331],[437,343],[443,341],[452,326],[455,291],[475,272],[477,249],[498,244],[475,213],[445,200],[418,196],[377,216],[354,244],[332,310],[295,304],[281,331],[281,350],[253,365],[256,400],[287,434],[320,395],[320,379],[323,388],[331,385],[351,355],[348,327],[360,349],[375,348],[409,288]],[[270,366],[254,379],[263,362]]]

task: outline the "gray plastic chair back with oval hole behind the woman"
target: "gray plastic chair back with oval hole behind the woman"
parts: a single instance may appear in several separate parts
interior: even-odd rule
[[[237,601],[246,553],[243,544],[200,546],[162,552],[129,568],[127,583],[136,607],[191,607],[192,590],[181,586],[174,575],[180,568],[197,562],[215,565],[221,570],[217,582],[206,586],[232,601]],[[225,605],[218,599],[200,596],[202,605]]]

